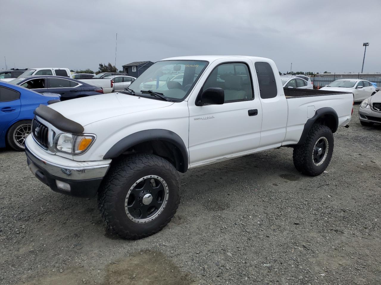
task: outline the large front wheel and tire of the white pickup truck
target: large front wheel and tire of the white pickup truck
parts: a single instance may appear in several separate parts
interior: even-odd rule
[[[180,203],[180,176],[156,155],[120,158],[110,168],[98,195],[110,230],[126,239],[157,233],[170,222]]]

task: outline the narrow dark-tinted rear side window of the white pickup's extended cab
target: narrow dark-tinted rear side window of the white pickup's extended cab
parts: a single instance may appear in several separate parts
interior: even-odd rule
[[[277,84],[270,64],[267,62],[256,62],[254,66],[257,72],[261,98],[268,99],[277,97]]]

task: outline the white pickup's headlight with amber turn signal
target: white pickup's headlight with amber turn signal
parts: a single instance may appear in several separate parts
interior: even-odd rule
[[[90,147],[94,139],[94,135],[61,133],[55,139],[54,148],[68,154],[81,154]]]

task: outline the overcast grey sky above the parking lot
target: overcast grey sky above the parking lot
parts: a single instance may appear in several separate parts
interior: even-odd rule
[[[281,72],[381,71],[381,1],[0,0],[0,69],[98,70],[204,54],[269,57]]]

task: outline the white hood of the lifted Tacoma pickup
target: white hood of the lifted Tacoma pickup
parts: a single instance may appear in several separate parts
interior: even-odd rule
[[[133,96],[124,93],[108,93],[66,100],[49,105],[67,119],[82,126],[96,121],[134,112],[163,108],[173,102]]]

